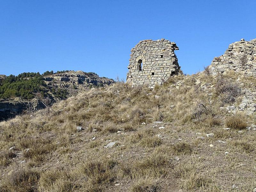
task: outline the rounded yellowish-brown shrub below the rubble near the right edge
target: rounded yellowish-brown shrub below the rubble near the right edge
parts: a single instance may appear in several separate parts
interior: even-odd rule
[[[244,115],[236,114],[234,116],[227,117],[225,124],[227,128],[243,130],[248,126],[246,120],[247,119]]]

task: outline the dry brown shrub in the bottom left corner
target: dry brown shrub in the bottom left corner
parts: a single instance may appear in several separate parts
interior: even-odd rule
[[[39,172],[33,168],[13,171],[3,181],[3,192],[37,192],[39,178]]]

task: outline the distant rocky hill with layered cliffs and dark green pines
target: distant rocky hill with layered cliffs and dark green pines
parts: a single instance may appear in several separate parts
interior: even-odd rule
[[[44,108],[39,98],[49,98],[49,103],[66,99],[81,90],[114,83],[113,79],[99,77],[83,71],[46,71],[21,73],[18,76],[0,75],[0,120],[25,111]],[[40,93],[38,98],[37,93]]]

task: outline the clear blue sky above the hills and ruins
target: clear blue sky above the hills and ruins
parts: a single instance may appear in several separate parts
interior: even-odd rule
[[[0,1],[0,74],[83,70],[126,77],[140,40],[174,41],[184,73],[256,38],[255,0]]]

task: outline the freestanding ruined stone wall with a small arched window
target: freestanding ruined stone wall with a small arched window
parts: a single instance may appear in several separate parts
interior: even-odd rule
[[[177,75],[180,66],[174,50],[179,48],[169,40],[140,41],[131,50],[127,82],[154,87],[156,84],[163,84],[170,76]]]

